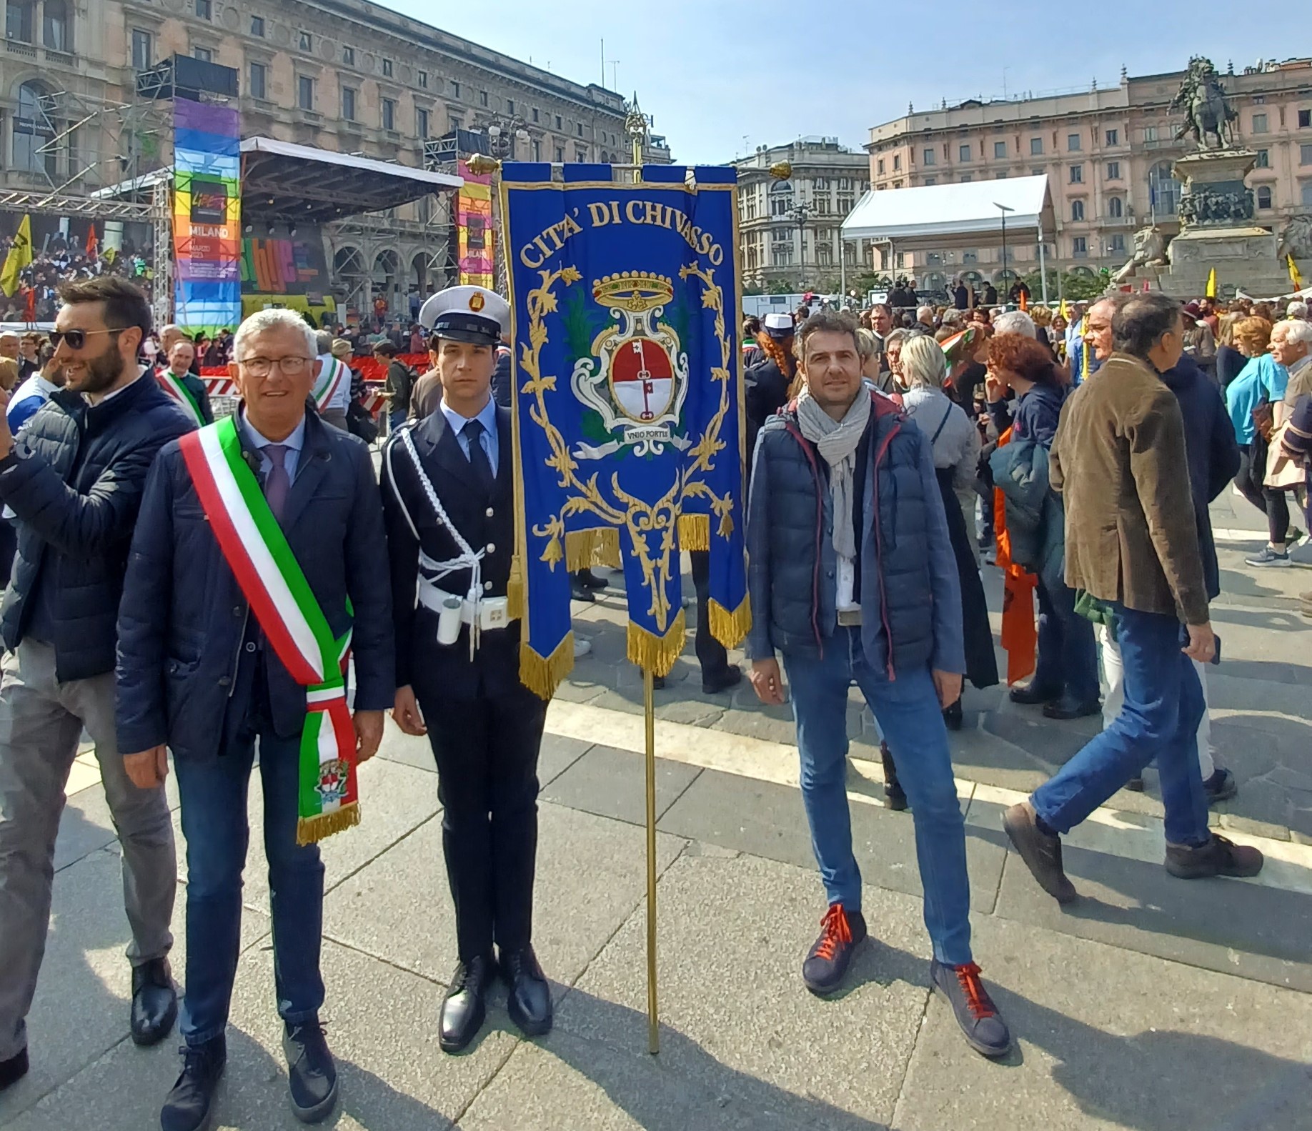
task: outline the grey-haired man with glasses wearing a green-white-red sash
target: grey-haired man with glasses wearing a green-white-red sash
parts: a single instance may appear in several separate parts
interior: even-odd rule
[[[188,859],[186,1047],[164,1131],[194,1131],[214,1114],[257,747],[293,1110],[318,1122],[337,1098],[319,1022],[316,842],[359,821],[356,771],[378,749],[395,680],[373,464],[359,440],[307,412],[315,348],[290,311],[241,324],[230,367],[241,408],[164,447],[133,541],[119,748],[143,786],[164,779],[165,747],[173,752]]]

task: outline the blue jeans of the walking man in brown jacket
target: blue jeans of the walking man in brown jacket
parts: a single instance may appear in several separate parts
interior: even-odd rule
[[[1166,841],[1207,844],[1207,795],[1198,769],[1198,723],[1206,705],[1174,617],[1117,606],[1126,702],[1115,722],[1084,747],[1030,803],[1044,824],[1065,833],[1157,757]]]

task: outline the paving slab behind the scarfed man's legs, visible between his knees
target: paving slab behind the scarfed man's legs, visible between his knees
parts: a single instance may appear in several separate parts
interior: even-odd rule
[[[849,773],[849,789],[863,790],[859,775]],[[882,796],[883,790],[871,790]],[[895,813],[882,804],[850,802],[851,845],[866,883],[921,895],[916,865],[916,837],[911,813]],[[705,770],[661,819],[661,829],[691,840],[731,848],[806,869],[821,905],[824,892],[815,869],[811,833],[802,794],[773,782],[744,779]],[[966,857],[971,874],[971,904],[991,911],[1002,875],[1004,846],[993,829],[967,824]]]

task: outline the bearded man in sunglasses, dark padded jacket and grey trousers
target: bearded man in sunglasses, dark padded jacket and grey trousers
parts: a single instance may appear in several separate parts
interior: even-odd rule
[[[50,335],[55,390],[14,438],[0,411],[0,503],[18,552],[0,606],[0,1090],[28,1071],[24,1018],[50,922],[55,834],[83,730],[96,743],[123,853],[131,1035],[177,1016],[169,920],[177,886],[163,785],[138,789],[114,737],[115,619],[146,472],[186,417],[136,363],[151,312],[126,279],[67,283]],[[0,409],[9,395],[0,392]]]

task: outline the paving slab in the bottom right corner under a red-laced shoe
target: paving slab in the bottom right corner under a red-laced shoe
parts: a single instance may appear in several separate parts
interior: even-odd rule
[[[1312,997],[994,917],[975,950],[1018,1050],[991,1063],[937,996],[899,1131],[1309,1131]]]

